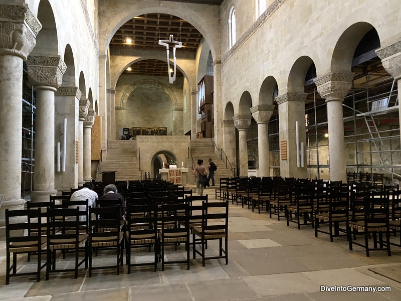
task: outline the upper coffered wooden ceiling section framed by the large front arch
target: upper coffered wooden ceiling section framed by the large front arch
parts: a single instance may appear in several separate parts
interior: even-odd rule
[[[134,17],[121,26],[111,39],[110,46],[122,45],[133,50],[160,50],[165,47],[159,40],[167,40],[170,35],[182,42],[179,51],[195,51],[202,40],[200,34],[185,20],[167,14],[145,14]]]

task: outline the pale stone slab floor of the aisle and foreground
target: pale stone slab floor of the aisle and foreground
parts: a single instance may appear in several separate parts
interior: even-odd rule
[[[207,189],[210,199],[215,191]],[[5,243],[0,243],[0,299],[13,301],[45,300],[129,300],[129,301],[326,301],[326,300],[401,300],[401,248],[393,247],[392,256],[372,251],[366,257],[363,248],[349,251],[344,237],[330,243],[328,235],[314,237],[307,226],[298,230],[295,224],[270,219],[266,212],[253,213],[230,204],[229,264],[222,260],[207,261],[202,267],[199,258],[191,259],[190,270],[183,264],[166,265],[157,272],[152,267],[126,267],[120,275],[115,270],[95,270],[92,277],[80,269],[78,279],[72,273],[51,274],[40,282],[32,277],[11,278],[5,285]],[[397,237],[396,239],[399,239]],[[210,243],[209,251],[217,244]],[[185,256],[182,247],[166,251],[167,260]],[[146,250],[136,250],[135,260],[152,260]],[[21,256],[20,270],[35,270]],[[114,263],[114,255],[103,251],[94,258],[94,265]],[[133,257],[134,258],[134,257]],[[60,258],[58,267],[70,267],[72,255]],[[389,286],[390,292],[321,291],[325,286]]]

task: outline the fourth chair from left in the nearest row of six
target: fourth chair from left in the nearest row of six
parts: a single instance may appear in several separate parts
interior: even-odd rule
[[[128,274],[131,266],[154,265],[157,270],[157,205],[127,206],[126,262]],[[131,248],[154,248],[153,262],[131,263]]]

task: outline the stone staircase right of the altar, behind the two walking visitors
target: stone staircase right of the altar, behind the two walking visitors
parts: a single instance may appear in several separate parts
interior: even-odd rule
[[[220,183],[220,178],[232,178],[234,176],[233,171],[228,165],[226,169],[226,161],[223,155],[223,160],[220,157],[220,151],[215,154],[215,144],[211,138],[195,139],[190,141],[190,149],[192,154],[192,159],[194,164],[197,163],[198,159],[204,161],[204,165],[208,166],[208,159],[211,158],[212,161],[217,166],[217,171],[215,172],[215,185]]]

